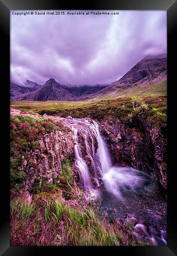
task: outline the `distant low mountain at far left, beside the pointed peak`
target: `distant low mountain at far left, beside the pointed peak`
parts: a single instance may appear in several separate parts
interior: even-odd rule
[[[24,86],[10,82],[10,98],[15,100],[19,95],[37,90],[41,85],[30,80],[24,82]]]

